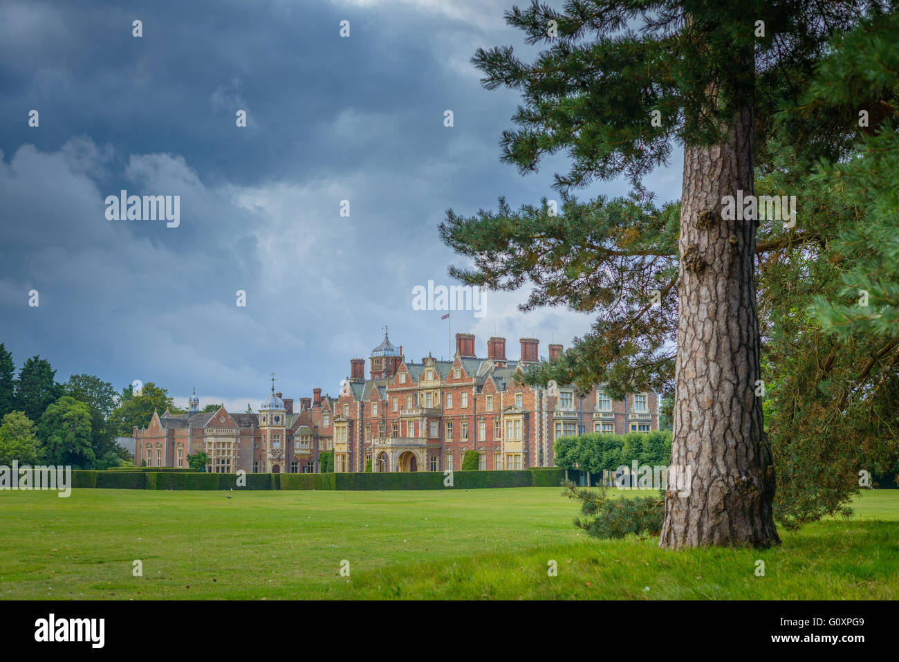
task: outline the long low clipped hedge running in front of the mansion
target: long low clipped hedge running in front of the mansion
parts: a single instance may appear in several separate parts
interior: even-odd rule
[[[72,471],[73,488],[189,489],[189,490],[394,490],[555,488],[565,470],[540,468],[525,471],[453,471],[453,487],[444,485],[442,471],[393,473],[248,473],[245,486],[237,487],[233,473],[198,471]]]

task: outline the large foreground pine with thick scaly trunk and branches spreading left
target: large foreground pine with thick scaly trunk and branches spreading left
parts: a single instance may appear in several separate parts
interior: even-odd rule
[[[572,166],[556,174],[560,214],[546,199],[512,212],[501,198],[472,218],[449,210],[441,237],[475,265],[450,274],[503,290],[530,278],[524,309],[598,309],[591,335],[552,368],[579,386],[603,378],[618,395],[671,380],[676,340],[672,464],[693,480],[689,497],[666,495],[663,547],[779,542],[754,262],[803,233],[783,228],[757,245],[757,217],[723,213],[725,199],[753,195],[756,169],[776,156],[764,138],[780,108],[798,103],[828,40],[888,4],[569,0],[556,11],[535,2],[506,13],[529,44],[547,47],[532,64],[509,47],[473,59],[488,89],[523,97],[503,160],[527,173],[565,151]],[[840,118],[790,128],[817,158],[851,139]],[[676,143],[680,209],[657,208],[640,182]],[[581,203],[570,193],[619,175],[634,183],[629,199]]]

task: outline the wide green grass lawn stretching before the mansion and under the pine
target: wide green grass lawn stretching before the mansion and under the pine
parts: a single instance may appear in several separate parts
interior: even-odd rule
[[[0,597],[896,599],[899,490],[855,508],[776,550],[675,552],[586,538],[559,488],[4,491]]]

